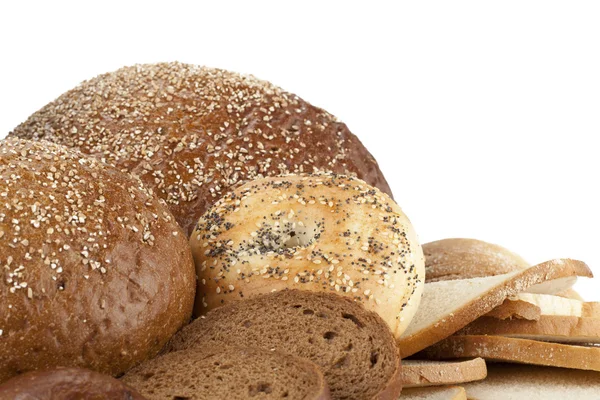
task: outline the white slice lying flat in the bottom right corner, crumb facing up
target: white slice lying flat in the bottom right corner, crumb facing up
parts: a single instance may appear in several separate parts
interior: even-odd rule
[[[465,385],[471,400],[598,400],[600,373],[495,364],[484,381]]]

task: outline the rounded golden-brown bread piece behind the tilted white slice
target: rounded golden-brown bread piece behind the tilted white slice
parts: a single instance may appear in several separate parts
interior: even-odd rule
[[[442,239],[423,245],[427,282],[495,276],[530,267],[518,254],[476,239]]]

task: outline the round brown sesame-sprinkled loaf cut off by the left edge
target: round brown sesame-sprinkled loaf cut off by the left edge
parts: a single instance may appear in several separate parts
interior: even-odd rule
[[[48,142],[0,142],[0,270],[0,382],[55,366],[122,373],[193,308],[191,251],[164,203]]]

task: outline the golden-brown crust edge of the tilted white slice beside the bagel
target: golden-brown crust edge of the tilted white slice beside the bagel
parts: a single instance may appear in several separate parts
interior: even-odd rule
[[[431,325],[415,334],[400,338],[398,344],[402,358],[413,355],[439,342],[487,314],[504,302],[508,296],[523,292],[541,282],[567,276],[593,277],[592,271],[582,261],[560,259],[546,261],[512,275],[478,299],[465,304],[450,315],[445,315],[438,324]],[[427,284],[425,285],[427,290]],[[423,304],[423,302],[421,302]]]

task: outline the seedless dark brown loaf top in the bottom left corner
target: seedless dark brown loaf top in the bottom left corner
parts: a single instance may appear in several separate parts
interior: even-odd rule
[[[16,376],[0,385],[5,400],[145,400],[108,375],[80,368],[56,368]]]

